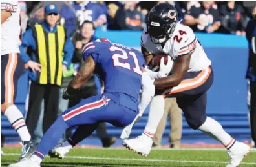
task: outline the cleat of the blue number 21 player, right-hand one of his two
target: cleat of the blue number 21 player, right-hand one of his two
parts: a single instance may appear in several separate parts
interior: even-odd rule
[[[50,157],[57,157],[58,159],[63,159],[71,149],[72,146],[66,141],[62,144],[58,144],[55,148],[50,150],[48,155]]]

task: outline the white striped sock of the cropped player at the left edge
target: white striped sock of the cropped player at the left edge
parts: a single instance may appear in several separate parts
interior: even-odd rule
[[[21,137],[21,141],[30,141],[31,137],[28,132],[28,128],[25,124],[21,111],[19,111],[17,106],[9,106],[5,111],[5,116],[19,134],[19,137]]]

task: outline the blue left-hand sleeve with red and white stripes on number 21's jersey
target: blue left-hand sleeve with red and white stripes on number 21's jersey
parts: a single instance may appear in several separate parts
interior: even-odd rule
[[[93,42],[88,43],[83,47],[83,60],[87,59],[90,55],[92,55],[95,64],[97,64],[100,55],[98,54],[98,48],[96,48],[96,45]]]

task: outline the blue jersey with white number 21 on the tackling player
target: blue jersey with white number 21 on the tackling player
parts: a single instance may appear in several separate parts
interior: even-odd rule
[[[141,52],[107,39],[97,39],[83,48],[83,58],[92,55],[95,73],[104,81],[104,94],[123,106],[138,110],[138,95],[142,87]]]

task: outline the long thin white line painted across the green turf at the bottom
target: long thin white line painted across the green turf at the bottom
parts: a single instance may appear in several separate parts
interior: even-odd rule
[[[20,154],[3,153],[3,155],[19,156]],[[112,160],[112,161],[193,162],[193,163],[228,164],[228,162],[220,162],[220,161],[187,161],[187,160],[171,160],[171,159],[124,159],[124,158],[81,157],[81,156],[66,156],[65,158],[66,159],[99,159],[99,160]],[[241,164],[256,164],[256,162],[242,162]]]

